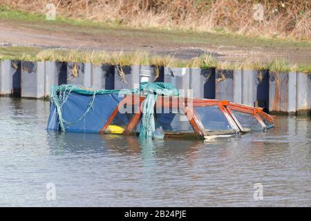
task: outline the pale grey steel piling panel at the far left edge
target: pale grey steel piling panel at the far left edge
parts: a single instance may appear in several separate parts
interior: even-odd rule
[[[11,61],[0,61],[0,95],[9,96],[13,90]]]

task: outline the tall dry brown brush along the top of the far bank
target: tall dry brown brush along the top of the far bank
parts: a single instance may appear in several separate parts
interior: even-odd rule
[[[48,2],[55,3],[57,15],[138,28],[311,39],[310,0],[1,0],[0,4],[45,12]],[[253,19],[254,3],[264,6],[263,21]]]

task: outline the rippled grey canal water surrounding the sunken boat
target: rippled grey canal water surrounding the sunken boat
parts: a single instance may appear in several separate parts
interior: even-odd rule
[[[46,131],[41,100],[1,97],[0,113],[0,206],[311,206],[310,117],[210,142],[144,142]]]

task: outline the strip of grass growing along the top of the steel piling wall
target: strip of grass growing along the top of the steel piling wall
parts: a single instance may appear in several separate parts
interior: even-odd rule
[[[221,69],[253,69],[272,70],[275,72],[297,71],[311,73],[311,64],[288,64],[283,59],[268,63],[219,62],[213,55],[204,54],[189,60],[176,59],[171,56],[152,56],[148,52],[106,52],[102,50],[69,50],[69,49],[42,49],[35,47],[9,46],[0,47],[0,59],[21,61],[71,61],[89,62],[94,65],[111,64],[118,66],[154,65],[187,68],[221,68]]]

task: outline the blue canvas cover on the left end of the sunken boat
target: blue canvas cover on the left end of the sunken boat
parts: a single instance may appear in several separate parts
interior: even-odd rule
[[[86,116],[78,121],[78,119],[86,112],[93,95],[85,95],[80,93],[70,93],[66,102],[62,106],[62,117],[68,123],[64,124],[66,131],[82,132],[82,133],[100,133],[100,130],[106,124],[123,97],[119,97],[117,93],[98,94],[95,95],[93,107],[86,113]],[[56,107],[50,105],[50,117],[48,119],[48,129],[58,130],[59,122],[57,118]]]

